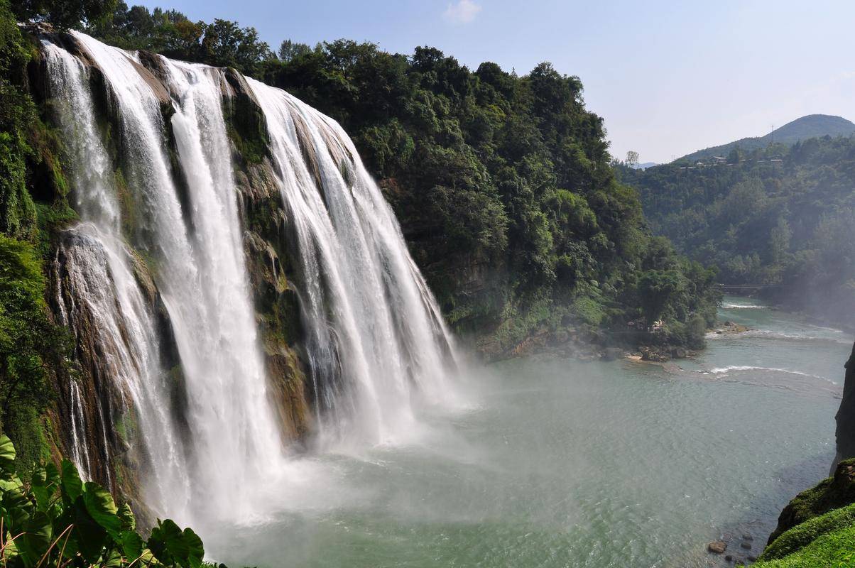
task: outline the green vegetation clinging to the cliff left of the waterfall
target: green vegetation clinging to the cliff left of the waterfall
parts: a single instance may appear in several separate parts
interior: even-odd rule
[[[56,141],[25,89],[33,46],[15,24],[21,17],[61,18],[48,3],[15,9],[17,15],[0,0],[0,429],[27,470],[50,452],[43,412],[53,395],[50,372],[64,363],[67,345],[44,301],[42,254],[50,228],[74,213]]]

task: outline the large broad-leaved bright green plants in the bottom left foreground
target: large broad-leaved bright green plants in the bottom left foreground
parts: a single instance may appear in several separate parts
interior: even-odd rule
[[[148,540],[127,503],[81,482],[74,464],[39,465],[29,482],[15,470],[15,447],[0,435],[0,566],[163,565],[199,568],[204,548],[191,529],[157,521]]]

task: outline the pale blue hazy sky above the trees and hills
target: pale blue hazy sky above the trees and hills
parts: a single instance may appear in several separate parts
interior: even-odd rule
[[[133,0],[126,0],[133,5]],[[432,45],[470,68],[578,75],[611,151],[664,162],[801,115],[855,120],[855,1],[144,0],[256,27],[272,48],[369,40]]]

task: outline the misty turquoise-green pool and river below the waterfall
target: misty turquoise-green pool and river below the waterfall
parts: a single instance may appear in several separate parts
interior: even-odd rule
[[[404,447],[296,459],[281,502],[201,527],[254,566],[707,566],[720,536],[763,546],[828,474],[852,338],[728,299],[693,360],[526,358],[428,411]],[[738,548],[734,544],[734,548]],[[722,565],[725,565],[722,561]]]

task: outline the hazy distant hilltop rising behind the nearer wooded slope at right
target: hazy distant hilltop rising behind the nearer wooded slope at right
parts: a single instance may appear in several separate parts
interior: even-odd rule
[[[713,156],[727,157],[730,150],[737,145],[742,150],[752,151],[758,148],[765,148],[769,145],[769,142],[793,145],[799,140],[817,138],[817,136],[850,136],[853,133],[855,133],[855,124],[847,121],[842,116],[807,115],[797,118],[792,122],[787,122],[784,126],[773,130],[765,136],[743,138],[728,144],[713,146],[705,150],[687,154],[680,159],[693,162]]]

